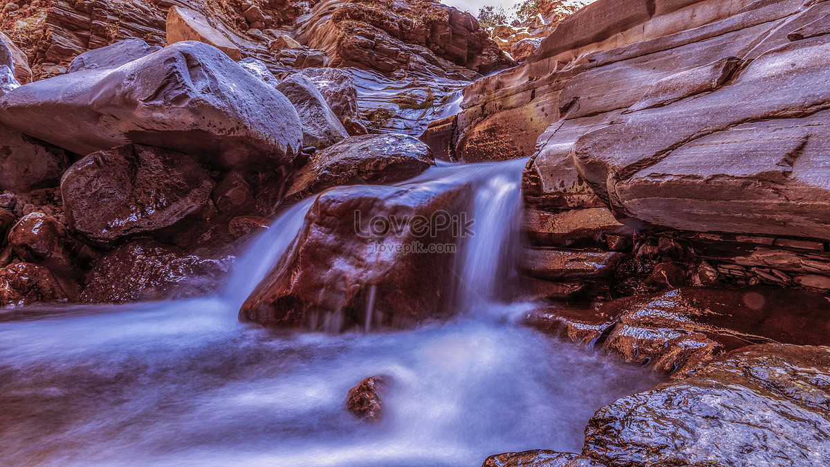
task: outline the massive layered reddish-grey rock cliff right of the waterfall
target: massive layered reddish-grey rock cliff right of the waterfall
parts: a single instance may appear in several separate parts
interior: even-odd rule
[[[532,246],[564,253],[531,251],[549,270],[526,272],[556,278],[534,283],[551,296],[574,292],[556,258],[612,252],[630,255],[609,273],[612,295],[827,291],[828,12],[594,2],[522,66],[467,86],[461,113],[422,140],[455,160],[532,156]]]

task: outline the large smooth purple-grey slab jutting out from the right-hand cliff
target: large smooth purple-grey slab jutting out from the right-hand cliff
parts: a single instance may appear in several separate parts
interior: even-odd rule
[[[716,91],[583,135],[577,170],[617,214],[650,224],[828,239],[828,69],[830,36],[775,47]]]

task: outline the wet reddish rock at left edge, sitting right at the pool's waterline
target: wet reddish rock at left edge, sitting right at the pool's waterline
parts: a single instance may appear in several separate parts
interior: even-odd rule
[[[16,263],[0,269],[0,307],[36,302],[75,302],[81,287],[59,279],[49,268],[32,263]]]

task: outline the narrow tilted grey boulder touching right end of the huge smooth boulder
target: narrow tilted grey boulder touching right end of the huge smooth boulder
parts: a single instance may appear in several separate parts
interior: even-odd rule
[[[300,115],[304,146],[314,146],[320,150],[349,137],[343,124],[310,79],[297,73],[276,85],[276,90],[294,104]]]

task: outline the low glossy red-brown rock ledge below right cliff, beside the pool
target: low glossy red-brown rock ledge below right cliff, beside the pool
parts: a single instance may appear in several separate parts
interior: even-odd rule
[[[690,287],[595,307],[551,307],[530,323],[679,378],[756,343],[828,345],[828,312],[830,301],[815,292]]]

